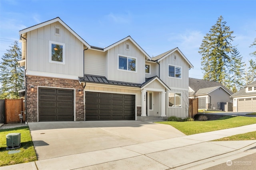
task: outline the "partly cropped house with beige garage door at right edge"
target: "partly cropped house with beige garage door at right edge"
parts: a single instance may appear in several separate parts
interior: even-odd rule
[[[256,112],[256,81],[244,86],[231,97],[233,98],[233,111]]]

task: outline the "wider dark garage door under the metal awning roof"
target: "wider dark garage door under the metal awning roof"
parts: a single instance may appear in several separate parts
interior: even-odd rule
[[[135,95],[86,92],[86,120],[135,120]]]

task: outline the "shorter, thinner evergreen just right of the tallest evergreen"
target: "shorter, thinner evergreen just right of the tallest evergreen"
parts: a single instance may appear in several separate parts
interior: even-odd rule
[[[244,78],[244,62],[242,62],[242,56],[239,55],[240,53],[234,47],[231,51],[230,56],[230,64],[229,68],[229,78],[230,80],[230,90],[232,92],[237,92],[243,86],[243,78]]]

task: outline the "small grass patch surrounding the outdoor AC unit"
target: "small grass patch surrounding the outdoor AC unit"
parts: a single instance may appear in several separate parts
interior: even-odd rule
[[[8,154],[6,150],[6,135],[9,133],[20,133],[21,146],[19,153]],[[20,164],[37,160],[34,145],[28,126],[0,130],[0,166]]]

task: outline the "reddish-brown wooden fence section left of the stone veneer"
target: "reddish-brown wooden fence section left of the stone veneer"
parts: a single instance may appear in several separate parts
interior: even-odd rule
[[[24,114],[25,103],[23,99],[5,99],[4,105],[4,123],[20,123],[19,114],[23,115],[22,122],[26,121],[26,115]]]

